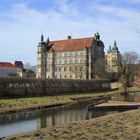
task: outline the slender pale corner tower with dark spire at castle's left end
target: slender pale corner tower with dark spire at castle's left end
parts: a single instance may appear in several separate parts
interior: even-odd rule
[[[41,35],[41,41],[38,44],[37,51],[37,72],[36,78],[46,78],[46,42],[44,41],[43,34]]]

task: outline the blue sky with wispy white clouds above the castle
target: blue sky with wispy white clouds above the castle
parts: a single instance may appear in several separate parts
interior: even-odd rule
[[[140,53],[140,0],[0,0],[0,61],[36,65],[45,39],[94,36],[117,41],[121,53]]]

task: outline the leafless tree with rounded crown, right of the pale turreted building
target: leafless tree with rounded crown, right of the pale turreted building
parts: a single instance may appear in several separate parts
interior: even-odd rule
[[[122,70],[121,70],[121,78],[124,92],[127,92],[127,87],[132,86],[134,80],[135,71],[138,68],[138,60],[139,54],[130,51],[122,54]]]

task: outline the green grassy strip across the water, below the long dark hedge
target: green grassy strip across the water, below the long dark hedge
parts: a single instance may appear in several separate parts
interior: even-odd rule
[[[128,92],[137,92],[140,88],[132,87]],[[13,98],[0,99],[0,114],[8,114],[23,110],[35,110],[40,108],[51,108],[69,105],[80,100],[88,100],[91,98],[106,97],[113,94],[121,93],[121,90],[113,90],[109,92],[96,93],[71,93],[69,95],[59,96],[41,96],[30,98]]]

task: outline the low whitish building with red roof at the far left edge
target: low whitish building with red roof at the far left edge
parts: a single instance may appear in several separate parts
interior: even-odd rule
[[[0,76],[19,76],[22,72],[21,68],[17,68],[10,62],[0,62]]]

